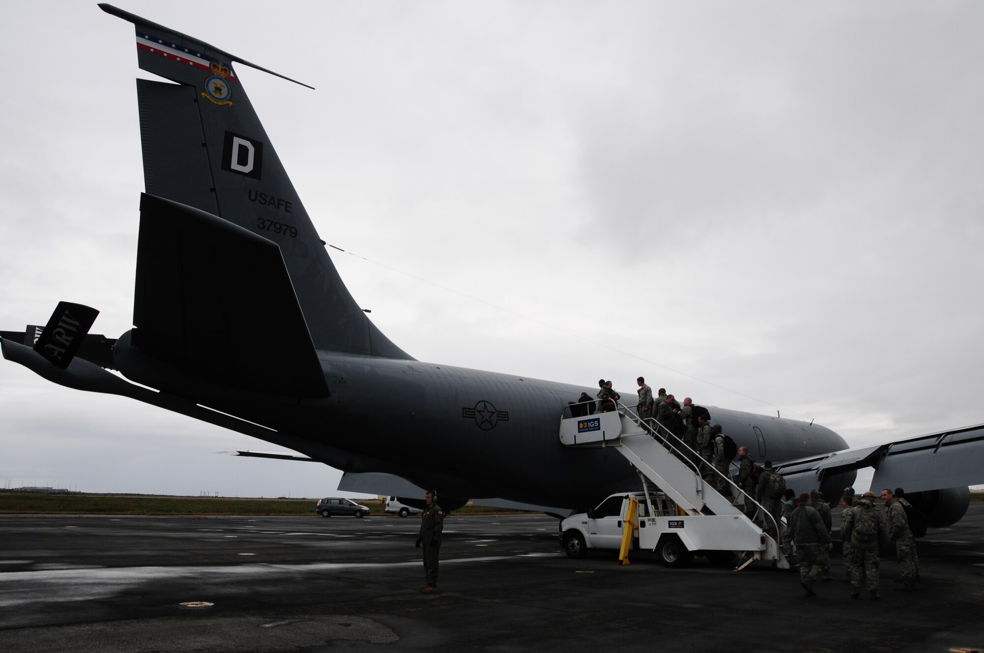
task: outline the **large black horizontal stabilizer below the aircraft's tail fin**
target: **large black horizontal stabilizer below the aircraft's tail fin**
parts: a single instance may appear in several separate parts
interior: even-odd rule
[[[133,344],[229,386],[327,396],[277,244],[152,195],[140,208]]]

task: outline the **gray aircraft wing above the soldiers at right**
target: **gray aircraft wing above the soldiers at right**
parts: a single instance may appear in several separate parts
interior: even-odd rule
[[[884,445],[860,446],[784,461],[784,476],[814,472],[824,476],[873,467],[873,488],[906,493],[984,483],[984,424],[917,436]]]

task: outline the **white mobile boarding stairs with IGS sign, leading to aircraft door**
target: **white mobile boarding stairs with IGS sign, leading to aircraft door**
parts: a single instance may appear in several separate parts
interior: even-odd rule
[[[646,483],[648,480],[676,503],[680,516],[689,517],[677,520],[672,526],[680,529],[675,531],[675,535],[681,536],[685,543],[693,543],[688,548],[693,546],[706,551],[731,551],[740,557],[736,570],[755,561],[769,561],[776,567],[789,568],[776,540],[746,516],[744,504],[747,502],[758,506],[759,514],[766,515],[765,519],[769,520],[775,533],[781,534],[785,529],[781,520],[776,523],[762,505],[743,493],[730,478],[706,463],[700,466],[696,464],[694,461],[700,460],[700,456],[678,438],[657,435],[666,433],[662,428],[655,429],[654,434],[652,429],[640,426],[635,413],[621,404],[617,410],[607,413],[584,417],[569,415],[569,412],[565,412],[561,419],[561,442],[567,446],[613,447],[624,455],[643,480],[646,503],[649,503],[650,492]],[[647,422],[659,426],[655,424],[655,420],[650,419]],[[723,479],[727,487],[730,487],[732,496],[736,498],[737,505],[706,483],[702,472],[704,475],[709,473]],[[651,505],[647,513],[654,514]],[[646,524],[650,528],[661,525],[656,519],[647,521],[651,521]],[[684,531],[687,531],[685,537]],[[656,543],[651,535],[655,532],[649,530],[646,534],[649,537],[640,540],[641,548],[654,548]]]

